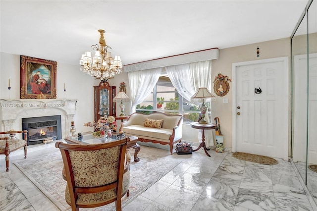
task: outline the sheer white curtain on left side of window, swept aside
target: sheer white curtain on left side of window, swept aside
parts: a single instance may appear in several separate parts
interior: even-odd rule
[[[159,80],[162,67],[128,72],[129,85],[131,90],[131,113],[135,112],[135,106],[142,103],[153,91]]]

